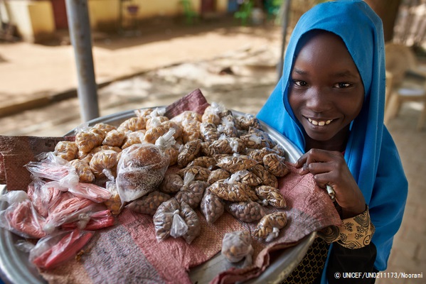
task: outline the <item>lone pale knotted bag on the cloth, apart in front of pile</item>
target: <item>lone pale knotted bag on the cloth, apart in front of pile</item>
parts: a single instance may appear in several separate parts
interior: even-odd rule
[[[250,231],[231,231],[223,237],[222,254],[232,263],[245,258],[243,267],[250,266],[253,251]]]

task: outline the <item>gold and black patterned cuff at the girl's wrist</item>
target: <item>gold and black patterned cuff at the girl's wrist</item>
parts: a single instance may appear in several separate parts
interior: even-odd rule
[[[370,244],[375,227],[371,223],[368,207],[361,214],[344,219],[339,226],[328,226],[318,232],[318,236],[327,243],[336,241],[346,249],[361,249]]]

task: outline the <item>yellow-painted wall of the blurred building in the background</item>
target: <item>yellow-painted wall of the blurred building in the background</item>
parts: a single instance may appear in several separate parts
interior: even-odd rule
[[[65,1],[65,0],[64,0]],[[93,30],[115,30],[119,25],[119,0],[87,0],[90,25]],[[201,0],[190,0],[195,11],[201,11]],[[28,42],[38,43],[55,34],[55,15],[50,0],[4,0],[7,18],[16,25],[18,34]],[[139,6],[138,20],[158,16],[178,16],[183,14],[180,0],[129,0],[122,2],[123,19],[132,18],[127,11],[129,4]],[[216,0],[217,13],[226,13],[228,0]],[[2,18],[6,18],[3,17]]]

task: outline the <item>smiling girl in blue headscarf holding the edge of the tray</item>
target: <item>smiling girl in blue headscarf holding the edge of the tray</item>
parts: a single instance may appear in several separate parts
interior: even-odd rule
[[[363,1],[319,4],[294,28],[284,63],[257,117],[304,153],[296,163],[299,173],[312,173],[319,187],[334,190],[343,220],[319,232],[285,283],[339,283],[339,273],[383,271],[408,182],[383,125],[380,18]]]

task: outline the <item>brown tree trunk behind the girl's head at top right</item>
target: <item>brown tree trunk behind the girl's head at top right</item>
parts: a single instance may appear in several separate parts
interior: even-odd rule
[[[385,42],[393,38],[393,26],[398,16],[401,0],[365,0],[383,21]]]

